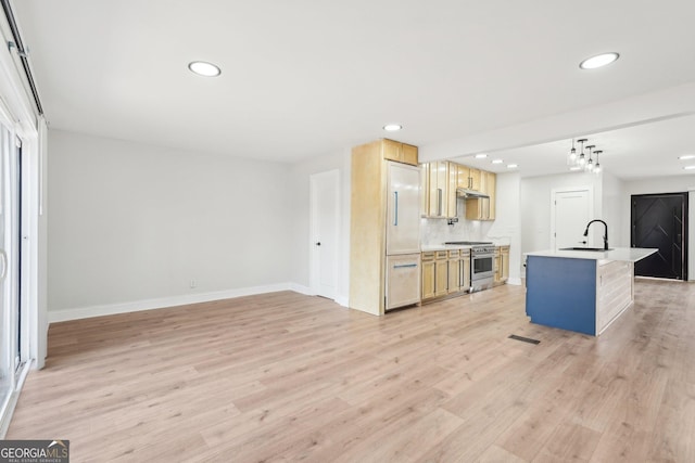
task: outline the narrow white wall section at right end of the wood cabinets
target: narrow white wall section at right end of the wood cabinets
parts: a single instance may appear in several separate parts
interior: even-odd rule
[[[495,221],[488,239],[509,243],[509,283],[521,284],[521,177],[518,172],[498,173]]]

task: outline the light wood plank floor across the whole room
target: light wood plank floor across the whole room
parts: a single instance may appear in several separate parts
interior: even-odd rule
[[[58,323],[7,438],[73,462],[694,462],[694,296],[639,281],[599,338],[530,324],[509,285],[386,318],[286,292]]]

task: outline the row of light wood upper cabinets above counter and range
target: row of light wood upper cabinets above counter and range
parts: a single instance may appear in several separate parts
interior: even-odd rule
[[[468,220],[495,219],[496,175],[447,160],[420,165],[422,217],[453,218],[457,215],[457,189],[477,191],[489,197],[466,200]]]

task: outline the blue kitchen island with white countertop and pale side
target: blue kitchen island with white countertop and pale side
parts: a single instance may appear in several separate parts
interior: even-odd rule
[[[634,300],[634,262],[656,250],[527,253],[526,313],[532,323],[598,336]]]

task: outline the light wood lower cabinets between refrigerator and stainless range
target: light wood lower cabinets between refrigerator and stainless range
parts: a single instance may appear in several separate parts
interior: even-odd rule
[[[422,253],[422,300],[470,290],[470,249]]]

